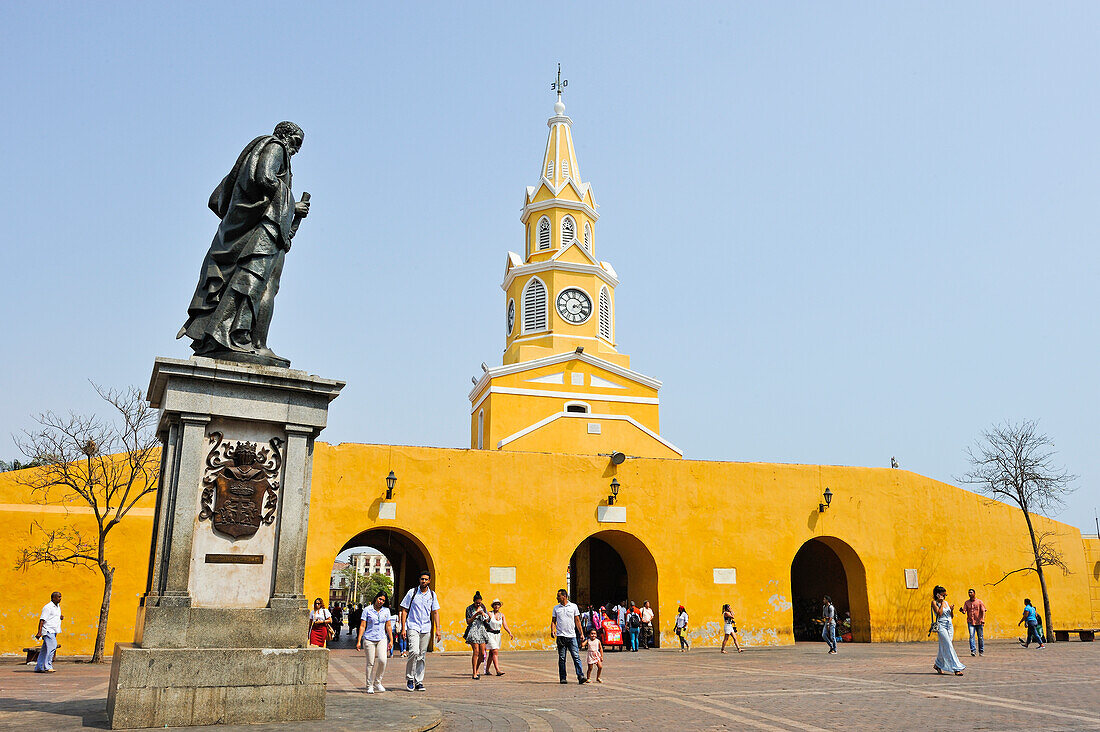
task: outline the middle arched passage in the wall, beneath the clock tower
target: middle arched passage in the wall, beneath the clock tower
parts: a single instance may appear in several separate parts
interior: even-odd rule
[[[570,598],[608,609],[623,600],[639,608],[647,600],[653,609],[654,642],[660,645],[660,602],[657,594],[657,562],[636,536],[619,531],[597,532],[581,542],[569,559]]]

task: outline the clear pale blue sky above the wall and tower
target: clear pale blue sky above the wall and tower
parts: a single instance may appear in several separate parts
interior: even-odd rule
[[[312,212],[273,348],[348,381],[328,441],[468,446],[561,62],[686,457],[950,481],[1037,418],[1096,531],[1100,6],[675,6],[3,3],[0,457],[189,354],[207,198],[283,119]]]

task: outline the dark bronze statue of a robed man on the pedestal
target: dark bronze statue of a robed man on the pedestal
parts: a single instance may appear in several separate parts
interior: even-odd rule
[[[279,122],[274,133],[249,143],[210,195],[221,225],[202,261],[187,323],[176,335],[191,339],[196,356],[290,365],[267,348],[267,331],[283,261],[309,215],[309,194],[295,203],[290,192],[290,157],[304,138],[294,122]]]

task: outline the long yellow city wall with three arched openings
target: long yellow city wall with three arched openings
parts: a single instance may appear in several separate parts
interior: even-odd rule
[[[549,611],[570,556],[600,532],[612,532],[602,537],[624,556],[630,599],[654,602],[666,638],[683,602],[695,642],[717,643],[718,611],[729,602],[746,643],[791,643],[791,560],[814,537],[835,537],[827,542],[847,559],[854,610],[858,567],[851,562],[854,557],[861,562],[872,641],[925,640],[936,583],[946,586],[956,603],[968,587],[977,588],[989,605],[990,637],[1013,636],[1022,599],[1041,600],[1033,572],[991,586],[1031,561],[1018,510],[904,470],[681,459],[632,459],[613,469],[596,456],[323,444],[314,460],[307,597],[328,596],[332,560],[358,533],[398,529],[430,554],[447,651],[463,647],[462,611],[474,590],[504,600],[517,634],[510,647],[549,645]],[[380,521],[391,470],[398,478],[397,518]],[[596,510],[606,502],[612,478],[622,484],[618,505],[626,507],[627,522],[602,525]],[[818,513],[826,487],[834,492],[833,505]],[[109,648],[132,638],[152,507],[147,498],[111,535],[109,556],[119,569]],[[13,569],[32,521],[51,527],[89,518],[43,512],[13,473],[0,474],[0,531],[8,537],[0,549],[0,652],[29,645],[37,612],[55,589],[65,596],[63,655],[91,652],[102,589],[98,573]],[[1040,531],[1058,534],[1071,570],[1048,571],[1055,625],[1091,626],[1090,596],[1100,580],[1080,532],[1044,518],[1036,523]],[[491,566],[515,567],[516,583],[490,584]],[[737,583],[715,584],[714,568],[726,567],[736,568]],[[919,571],[920,589],[905,589],[906,568]]]

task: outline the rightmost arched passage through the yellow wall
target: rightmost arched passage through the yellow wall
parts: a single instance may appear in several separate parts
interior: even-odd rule
[[[791,561],[791,612],[795,641],[820,641],[822,598],[829,596],[837,623],[851,615],[851,640],[869,643],[871,622],[867,602],[867,571],[855,549],[834,536],[812,538]],[[845,630],[840,629],[840,633]]]

